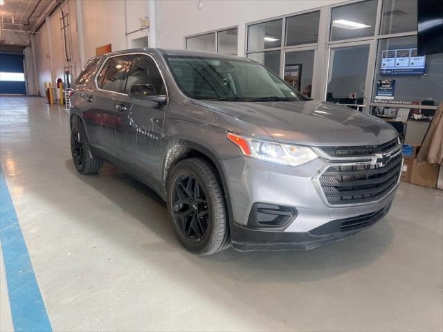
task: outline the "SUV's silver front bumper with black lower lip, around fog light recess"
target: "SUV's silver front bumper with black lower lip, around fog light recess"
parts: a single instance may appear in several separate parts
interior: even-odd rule
[[[397,185],[383,199],[359,205],[329,205],[318,187],[316,175],[327,162],[316,159],[300,167],[275,165],[248,157],[224,160],[224,171],[233,211],[231,241],[237,250],[312,249],[350,237],[385,216]],[[296,209],[296,218],[280,229],[257,229],[248,219],[254,203]],[[372,215],[359,228],[342,224]]]

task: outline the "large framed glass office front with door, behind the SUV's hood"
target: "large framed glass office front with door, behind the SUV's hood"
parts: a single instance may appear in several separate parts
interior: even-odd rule
[[[305,95],[365,113],[432,111],[443,100],[443,54],[417,57],[417,0],[352,0],[251,22],[246,57]]]

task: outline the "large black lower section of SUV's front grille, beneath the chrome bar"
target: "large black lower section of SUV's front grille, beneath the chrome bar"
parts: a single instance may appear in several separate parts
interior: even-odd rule
[[[401,154],[385,166],[334,165],[320,176],[320,185],[329,204],[358,204],[377,201],[397,184],[401,171]]]

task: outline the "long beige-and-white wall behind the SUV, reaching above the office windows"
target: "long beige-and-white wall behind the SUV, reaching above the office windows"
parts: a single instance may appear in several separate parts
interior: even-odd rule
[[[156,40],[150,40],[150,46],[183,48],[183,38],[186,35],[238,26],[238,55],[244,56],[246,23],[342,1],[203,0],[203,8],[199,10],[196,0],[67,0],[63,3],[63,8],[71,17],[72,56],[75,66],[73,76],[80,73],[87,59],[96,55],[96,48],[106,44],[111,44],[113,51],[132,48],[136,44],[134,39],[153,35],[156,36]],[[151,17],[153,15],[150,15],[150,10],[153,14],[155,12],[155,20]],[[138,30],[139,19],[146,16],[150,17],[151,21],[156,21],[155,26]],[[64,49],[60,17],[60,9],[55,10],[48,21],[39,28],[39,34],[33,37],[39,91],[42,95],[43,83],[53,81],[55,84],[57,77],[63,74]],[[78,36],[80,30],[83,32],[83,38]],[[127,35],[135,30],[138,31]],[[80,54],[82,52],[83,54]]]

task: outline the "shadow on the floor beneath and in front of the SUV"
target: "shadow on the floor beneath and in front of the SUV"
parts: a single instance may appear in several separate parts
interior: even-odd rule
[[[183,256],[195,264],[210,266],[223,275],[227,266],[235,266],[247,276],[233,274],[232,277],[268,281],[298,281],[326,279],[331,275],[344,273],[360,266],[371,264],[378,259],[392,242],[392,228],[386,219],[356,235],[309,251],[257,251],[237,252],[230,248],[208,257],[191,255],[181,247],[170,222],[166,204],[161,197],[132,176],[120,172],[116,167],[105,163],[100,174],[83,176],[75,171],[72,161],[66,166],[93,189],[105,195],[132,217],[154,231],[165,243],[146,243],[145,250],[179,250]],[[103,184],[106,183],[104,186]],[[125,195],[122,194],[125,192]],[[165,248],[166,247],[166,248]],[[172,248],[171,248],[172,247]]]

